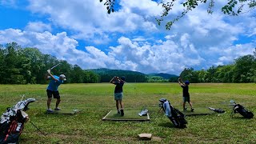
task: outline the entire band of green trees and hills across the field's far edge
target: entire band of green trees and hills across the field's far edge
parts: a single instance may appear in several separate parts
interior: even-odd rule
[[[82,70],[58,60],[50,54],[42,54],[37,48],[22,48],[16,42],[0,45],[0,84],[45,84],[46,70],[56,66],[53,74],[65,74],[65,83],[110,82],[114,76],[125,76],[126,82],[177,82],[178,76],[169,80],[130,70]],[[256,48],[254,54],[241,56],[233,64],[211,66],[208,70],[186,68],[179,77],[190,82],[256,82]]]

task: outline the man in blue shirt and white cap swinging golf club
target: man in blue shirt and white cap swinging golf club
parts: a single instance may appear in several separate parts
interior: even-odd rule
[[[58,104],[59,102],[61,102],[61,97],[58,93],[58,86],[61,85],[64,81],[66,81],[66,76],[64,74],[61,74],[59,77],[53,74],[50,74],[50,70],[47,70],[48,74],[47,74],[47,79],[50,80],[50,83],[47,87],[47,113],[53,113],[54,110],[61,110],[60,108],[58,108]],[[54,110],[50,109],[50,102],[52,99],[52,96],[54,96],[54,98],[57,99],[56,101],[56,106]]]

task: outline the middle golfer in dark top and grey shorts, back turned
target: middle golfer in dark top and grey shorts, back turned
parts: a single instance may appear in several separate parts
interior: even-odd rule
[[[123,97],[122,86],[124,85],[125,80],[126,80],[125,77],[118,78],[116,76],[114,76],[114,78],[112,78],[110,80],[110,83],[113,83],[115,85],[114,100],[116,102],[115,104],[116,104],[116,107],[117,107],[117,110],[118,110],[118,114],[121,113],[122,116],[124,115],[123,104],[122,104],[122,97]],[[120,104],[121,110],[119,110],[119,104]]]

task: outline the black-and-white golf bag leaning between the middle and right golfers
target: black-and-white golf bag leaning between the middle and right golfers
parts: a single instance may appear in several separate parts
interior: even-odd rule
[[[159,106],[166,113],[167,118],[170,119],[170,122],[173,122],[174,126],[177,128],[186,128],[186,119],[185,115],[181,111],[175,109],[174,106],[170,105],[170,102],[166,98],[159,99]]]

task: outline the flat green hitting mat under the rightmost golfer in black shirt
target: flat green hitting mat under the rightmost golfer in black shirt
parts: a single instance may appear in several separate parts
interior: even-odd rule
[[[183,111],[181,109],[181,112],[185,114],[186,116],[192,116],[192,115],[207,115],[207,114],[214,114],[214,111],[209,110],[206,107],[194,107],[194,111],[190,111],[190,108],[187,108],[187,110]]]

